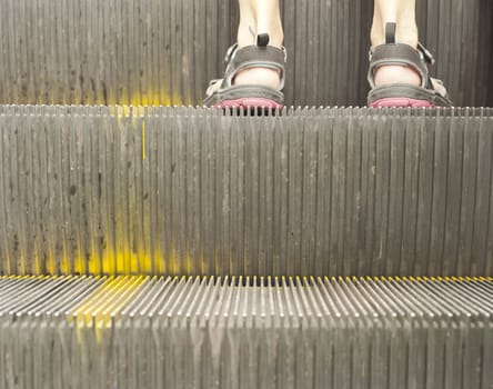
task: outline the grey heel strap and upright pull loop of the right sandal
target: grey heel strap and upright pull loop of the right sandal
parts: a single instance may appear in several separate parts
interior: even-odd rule
[[[385,27],[385,43],[370,50],[370,68],[368,81],[371,88],[375,88],[375,71],[378,68],[390,64],[410,67],[421,77],[421,87],[429,88],[430,77],[426,61],[434,62],[433,56],[423,44],[417,49],[410,44],[398,43],[395,39],[395,23],[388,23]]]

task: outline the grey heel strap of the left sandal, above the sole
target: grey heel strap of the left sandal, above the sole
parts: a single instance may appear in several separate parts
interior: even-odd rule
[[[276,48],[269,44],[269,34],[259,34],[256,44],[247,46],[239,49],[233,44],[227,53],[228,67],[222,80],[222,88],[232,86],[237,74],[251,68],[266,68],[276,70],[280,73],[281,87],[284,88],[286,51],[284,48]]]

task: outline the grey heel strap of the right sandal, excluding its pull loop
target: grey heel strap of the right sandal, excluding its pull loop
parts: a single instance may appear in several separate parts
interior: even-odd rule
[[[412,46],[404,43],[381,44],[370,51],[370,68],[368,81],[371,88],[375,88],[375,71],[383,66],[404,66],[415,70],[421,77],[421,87],[429,83],[427,67],[423,54]]]

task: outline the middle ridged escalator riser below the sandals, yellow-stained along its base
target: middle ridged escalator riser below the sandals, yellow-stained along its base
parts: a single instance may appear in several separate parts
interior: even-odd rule
[[[490,109],[0,107],[4,275],[492,276]]]

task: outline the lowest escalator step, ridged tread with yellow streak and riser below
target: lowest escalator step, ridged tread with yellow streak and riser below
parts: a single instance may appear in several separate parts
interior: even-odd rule
[[[493,279],[1,278],[0,388],[493,386]]]

